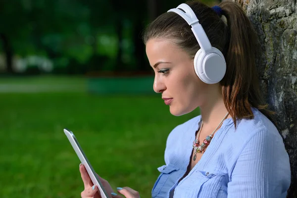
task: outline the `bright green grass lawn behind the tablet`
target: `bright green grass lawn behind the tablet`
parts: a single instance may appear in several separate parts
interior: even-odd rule
[[[0,198],[80,197],[80,161],[64,127],[114,189],[149,198],[168,134],[198,115],[171,115],[160,95],[2,93],[0,105]]]

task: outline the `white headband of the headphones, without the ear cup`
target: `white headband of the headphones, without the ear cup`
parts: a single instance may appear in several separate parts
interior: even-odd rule
[[[184,10],[184,12],[181,9]],[[203,50],[205,53],[211,51],[212,47],[209,42],[209,39],[208,39],[204,29],[202,28],[201,24],[199,23],[199,20],[198,20],[196,14],[194,13],[192,8],[188,4],[182,3],[179,6],[177,6],[176,8],[172,8],[172,9],[168,10],[167,12],[175,12],[178,15],[180,15],[181,17],[183,17],[185,19],[185,21],[187,21],[187,23],[192,26],[191,30],[194,33],[194,36],[197,39],[201,50]]]

